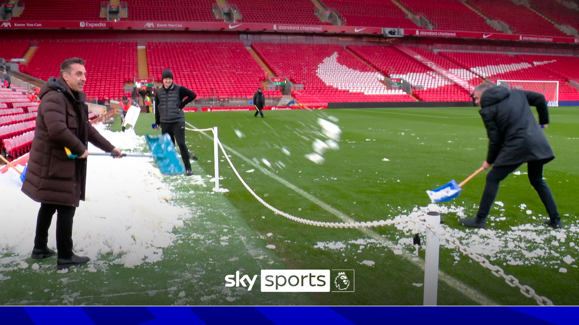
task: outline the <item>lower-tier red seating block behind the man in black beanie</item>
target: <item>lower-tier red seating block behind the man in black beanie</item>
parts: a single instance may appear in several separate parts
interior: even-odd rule
[[[173,70],[174,82],[193,90],[197,98],[250,98],[263,88],[267,74],[243,43],[148,43],[149,76],[161,80]],[[280,91],[264,91],[281,96]]]

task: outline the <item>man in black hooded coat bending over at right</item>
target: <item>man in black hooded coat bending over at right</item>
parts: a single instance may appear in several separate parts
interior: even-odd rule
[[[543,165],[555,155],[542,128],[549,124],[545,97],[533,91],[510,90],[483,83],[475,87],[474,96],[481,106],[479,113],[489,136],[489,151],[482,167],[493,167],[486,175],[477,216],[460,219],[468,227],[484,228],[486,216],[499,191],[499,183],[520,165],[527,163],[529,181],[547,208],[549,220],[544,224],[560,228],[561,219],[551,189],[543,180]],[[537,108],[539,123],[529,105]]]

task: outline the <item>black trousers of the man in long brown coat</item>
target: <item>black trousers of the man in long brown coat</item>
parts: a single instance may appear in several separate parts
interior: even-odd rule
[[[34,248],[46,248],[48,243],[48,228],[52,222],[54,212],[57,212],[56,219],[56,249],[58,258],[69,258],[72,256],[72,219],[76,208],[74,206],[56,205],[42,203],[38,210],[36,219],[36,237],[34,238]]]

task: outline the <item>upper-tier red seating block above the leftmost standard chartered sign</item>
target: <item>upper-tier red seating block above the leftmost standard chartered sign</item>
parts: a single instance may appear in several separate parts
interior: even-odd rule
[[[230,0],[229,4],[237,5],[240,21],[247,23],[331,25],[318,19],[310,0]]]

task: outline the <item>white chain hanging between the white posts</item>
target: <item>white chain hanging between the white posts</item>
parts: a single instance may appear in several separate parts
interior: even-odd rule
[[[187,128],[187,130],[190,130],[190,131],[212,131],[213,129],[212,128],[208,128],[208,129],[190,129],[190,128]],[[535,290],[532,287],[527,286],[527,285],[524,285],[524,286],[521,285],[521,283],[519,283],[519,280],[517,278],[515,278],[513,275],[506,275],[502,268],[500,268],[497,265],[491,264],[489,262],[489,260],[487,260],[485,257],[482,257],[479,254],[472,252],[472,250],[470,248],[462,245],[462,243],[460,242],[459,239],[454,238],[454,237],[450,237],[448,232],[445,231],[444,229],[442,229],[440,227],[434,227],[433,225],[429,224],[426,220],[426,217],[427,217],[426,214],[419,215],[419,216],[406,217],[406,218],[397,219],[397,220],[389,219],[389,220],[379,220],[379,221],[375,220],[375,221],[362,221],[362,222],[358,222],[358,221],[354,221],[354,222],[328,222],[328,221],[307,220],[307,219],[299,218],[296,216],[292,216],[289,213],[285,213],[281,210],[278,210],[278,209],[274,208],[274,206],[265,202],[261,197],[259,197],[259,195],[257,195],[251,189],[251,187],[247,183],[245,183],[245,180],[243,180],[243,178],[241,178],[241,175],[239,174],[239,172],[237,172],[237,169],[233,165],[233,162],[231,162],[231,160],[229,159],[229,156],[225,152],[225,148],[223,148],[223,145],[221,144],[221,141],[219,141],[219,139],[217,139],[217,143],[218,143],[219,147],[221,148],[221,152],[223,153],[223,156],[225,156],[225,159],[227,160],[230,167],[233,169],[233,172],[235,173],[235,175],[237,175],[237,178],[240,180],[241,184],[243,184],[245,189],[247,189],[251,193],[251,195],[253,195],[255,197],[255,199],[258,200],[261,204],[263,204],[267,209],[272,210],[277,215],[284,216],[287,219],[290,219],[290,220],[293,220],[293,221],[296,221],[299,223],[309,224],[310,226],[331,227],[331,228],[381,227],[381,226],[389,226],[389,225],[400,224],[400,223],[414,223],[414,224],[422,223],[422,224],[426,225],[426,227],[428,227],[431,231],[436,232],[438,235],[440,235],[441,238],[448,241],[451,245],[456,246],[461,253],[463,253],[466,256],[477,261],[479,264],[482,265],[482,267],[489,269],[493,275],[495,275],[499,278],[504,278],[505,282],[509,286],[518,287],[519,290],[521,291],[521,293],[523,294],[523,296],[528,297],[528,298],[533,298],[534,300],[537,301],[537,304],[542,305],[542,306],[545,306],[545,305],[552,306],[553,305],[553,302],[551,300],[549,300],[547,297],[538,296],[538,294],[535,293]]]

